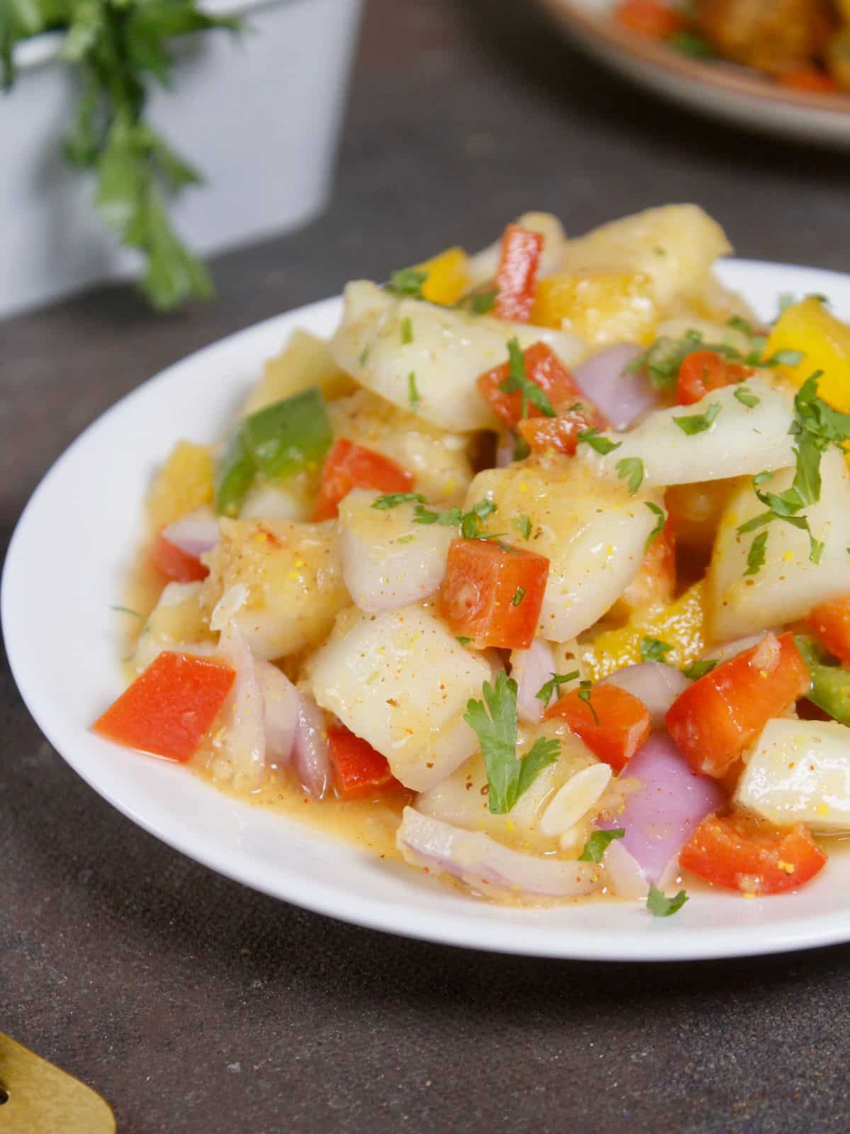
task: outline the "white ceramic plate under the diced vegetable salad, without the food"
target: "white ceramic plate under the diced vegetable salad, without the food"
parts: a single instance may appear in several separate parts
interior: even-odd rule
[[[850,276],[748,261],[724,263],[721,276],[765,319],[783,291],[823,293],[838,314],[850,316]],[[643,903],[500,908],[235,802],[179,765],[88,731],[122,687],[120,627],[110,603],[121,601],[154,468],[179,438],[222,435],[289,331],[326,335],[339,312],[338,299],[313,304],[170,366],[90,426],[42,481],[9,549],[2,623],[24,700],[58,752],[105,799],[178,850],[274,897],[375,929],[505,953],[617,960],[739,956],[850,939],[847,857],[831,861],[799,894],[749,902],[699,894],[669,920],[653,919]]]

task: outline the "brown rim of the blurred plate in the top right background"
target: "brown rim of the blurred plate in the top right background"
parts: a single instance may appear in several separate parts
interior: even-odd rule
[[[646,36],[618,27],[610,15],[593,15],[575,0],[539,0],[568,31],[577,32],[586,41],[601,40],[614,50],[643,65],[657,68],[668,76],[700,83],[706,91],[721,90],[726,94],[746,98],[753,103],[772,104],[818,110],[835,116],[843,124],[843,116],[850,116],[850,93],[826,93],[816,91],[793,91],[771,84],[766,79],[750,75],[750,68],[739,67],[728,61],[722,64],[691,59],[672,51],[664,44]],[[850,119],[848,119],[850,132]]]

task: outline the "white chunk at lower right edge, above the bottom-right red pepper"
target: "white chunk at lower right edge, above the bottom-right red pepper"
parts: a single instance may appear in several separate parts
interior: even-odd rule
[[[781,827],[850,831],[850,729],[836,721],[770,720],[734,798]]]

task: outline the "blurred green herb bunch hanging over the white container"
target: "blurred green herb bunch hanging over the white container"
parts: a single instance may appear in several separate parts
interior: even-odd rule
[[[124,244],[145,259],[141,288],[160,308],[213,294],[206,268],[181,243],[168,198],[201,175],[145,120],[148,85],[171,85],[169,46],[179,35],[238,27],[196,0],[0,0],[0,81],[15,79],[17,43],[65,32],[62,58],[79,69],[82,94],[65,143],[68,161],[95,174],[95,204]]]

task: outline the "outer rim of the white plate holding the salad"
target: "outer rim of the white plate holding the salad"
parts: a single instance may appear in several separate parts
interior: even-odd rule
[[[726,265],[731,274],[741,276],[749,271],[811,273],[826,278],[834,278],[842,281],[844,288],[850,285],[850,273],[842,273],[830,269],[813,269],[799,264],[777,264],[767,261],[753,261],[734,259],[722,262]],[[311,881],[309,886],[304,885],[304,879],[299,879],[297,869],[281,871],[272,886],[267,879],[252,874],[250,860],[243,863],[241,860],[233,864],[222,855],[215,853],[215,845],[202,832],[201,843],[197,838],[193,841],[192,831],[182,837],[176,835],[173,830],[163,829],[162,816],[151,816],[137,811],[131,802],[119,794],[113,793],[108,786],[99,782],[97,777],[86,768],[83,752],[67,751],[61,729],[50,717],[49,691],[45,696],[44,689],[35,689],[28,682],[26,666],[23,662],[24,651],[19,648],[18,631],[19,620],[14,616],[12,604],[17,598],[22,572],[25,569],[26,560],[22,560],[25,542],[28,538],[29,526],[37,522],[40,501],[51,490],[51,485],[61,475],[67,462],[74,459],[80,447],[84,447],[92,433],[97,429],[108,425],[113,414],[127,408],[137,398],[150,396],[150,391],[168,383],[173,372],[181,366],[195,367],[203,363],[204,358],[213,353],[222,350],[224,347],[239,346],[240,339],[249,336],[262,335],[272,331],[275,325],[281,324],[283,329],[297,325],[299,322],[309,321],[311,318],[331,318],[334,312],[341,308],[341,298],[332,297],[294,308],[273,315],[262,322],[252,324],[240,331],[226,336],[222,339],[207,344],[198,350],[180,358],[164,367],[158,374],[142,382],[134,390],[129,391],[113,405],[99,415],[62,454],[51,464],[42,476],[37,486],[24,507],[9,541],[9,547],[3,565],[2,581],[0,582],[0,621],[6,640],[7,655],[12,677],[16,682],[22,700],[28,712],[35,720],[42,734],[50,742],[58,755],[90,787],[92,787],[111,806],[153,835],[160,841],[178,850],[187,857],[199,862],[202,865],[221,873],[237,882],[246,885],[252,889],[267,894],[278,900],[284,900],[314,913],[346,921],[351,924],[367,929],[391,932],[397,936],[430,941],[433,943],[451,945],[465,948],[475,948],[483,951],[503,953],[509,955],[539,956],[561,959],[576,960],[605,960],[605,962],[681,962],[699,959],[719,959],[741,956],[759,956],[773,953],[784,953],[794,949],[816,948],[850,940],[850,907],[845,912],[833,912],[832,914],[819,915],[813,921],[805,917],[789,916],[777,924],[767,925],[768,932],[758,936],[754,932],[753,925],[723,926],[717,929],[690,929],[681,926],[677,929],[677,923],[663,922],[664,937],[658,938],[645,926],[643,930],[611,930],[592,929],[584,930],[580,924],[564,929],[559,926],[547,933],[539,922],[528,922],[520,919],[516,924],[511,922],[496,922],[486,916],[484,912],[486,904],[476,899],[467,899],[458,896],[458,905],[452,906],[452,914],[447,919],[436,919],[433,912],[420,909],[410,902],[391,902],[383,897],[366,898],[358,896],[357,891],[350,892],[342,883],[330,885],[325,882]],[[11,633],[10,633],[11,631]],[[73,746],[71,746],[73,747]],[[181,775],[186,775],[180,769]],[[198,780],[195,780],[199,784]],[[210,792],[214,796],[221,793],[207,785],[203,785],[204,792]],[[240,804],[247,807],[247,804]],[[290,829],[296,829],[296,833],[315,833],[312,828],[298,823],[297,820],[289,821],[283,815],[275,815],[275,822],[286,823]],[[325,840],[332,840],[337,846],[345,847],[346,843],[333,839],[332,836],[323,836]],[[299,881],[301,885],[299,885]],[[712,896],[715,900],[719,896]],[[792,899],[793,896],[788,896]],[[736,896],[731,900],[741,900]],[[766,900],[782,900],[766,899]],[[464,903],[473,903],[476,911],[475,916],[465,916]],[[580,908],[576,907],[576,908]],[[454,911],[457,909],[457,914]],[[471,914],[470,908],[470,914]],[[525,912],[524,912],[525,913]],[[525,932],[524,932],[525,929]],[[672,930],[672,932],[671,932]],[[510,938],[510,940],[508,940]],[[662,943],[663,942],[663,943]],[[661,947],[661,949],[660,949]]]

